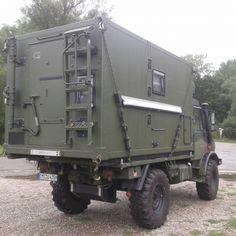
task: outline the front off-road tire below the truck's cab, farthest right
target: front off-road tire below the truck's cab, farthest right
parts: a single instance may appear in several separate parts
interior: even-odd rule
[[[210,159],[207,164],[205,183],[196,183],[197,193],[202,200],[214,200],[219,187],[219,172],[216,161]]]

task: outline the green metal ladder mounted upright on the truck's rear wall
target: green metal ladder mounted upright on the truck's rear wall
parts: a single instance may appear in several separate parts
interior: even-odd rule
[[[70,132],[72,131],[87,131],[88,145],[92,144],[92,98],[93,98],[93,76],[92,72],[97,69],[91,68],[92,55],[97,53],[97,48],[91,45],[91,39],[89,35],[85,35],[87,39],[87,46],[76,47],[75,44],[79,41],[85,28],[76,30],[70,30],[65,33],[65,51],[63,53],[63,72],[65,76],[65,93],[66,93],[66,143],[72,144],[72,137]],[[87,28],[86,28],[87,31]],[[73,35],[74,38],[70,37]],[[79,56],[84,56],[86,64],[83,62],[79,64]],[[74,104],[71,103],[71,92],[87,91],[87,103]],[[70,121],[73,115],[73,111],[79,113],[87,113],[87,117],[77,120]],[[80,112],[79,112],[80,111]],[[85,135],[86,136],[86,135]]]

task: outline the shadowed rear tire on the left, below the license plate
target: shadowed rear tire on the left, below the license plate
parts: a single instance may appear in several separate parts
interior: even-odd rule
[[[54,205],[65,214],[79,214],[90,204],[90,200],[81,199],[70,191],[68,181],[57,181],[52,187]]]

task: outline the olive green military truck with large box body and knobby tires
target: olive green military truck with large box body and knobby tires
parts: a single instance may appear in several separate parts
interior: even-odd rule
[[[60,211],[125,191],[134,221],[154,229],[170,184],[216,198],[213,112],[193,100],[186,61],[106,18],[12,37],[5,50],[5,151],[37,161]]]

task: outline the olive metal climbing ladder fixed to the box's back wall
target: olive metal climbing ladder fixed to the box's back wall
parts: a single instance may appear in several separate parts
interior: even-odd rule
[[[92,145],[92,128],[94,122],[92,120],[93,76],[91,73],[91,55],[96,48],[91,46],[88,31],[89,27],[84,27],[64,33],[63,75],[66,93],[65,143],[70,146],[73,143],[74,132],[79,137],[87,137],[88,145]],[[80,44],[82,38],[85,39],[85,46]],[[79,65],[79,57],[85,58],[85,66]],[[83,98],[86,98],[86,102],[81,101]],[[73,100],[74,102],[72,102]]]

